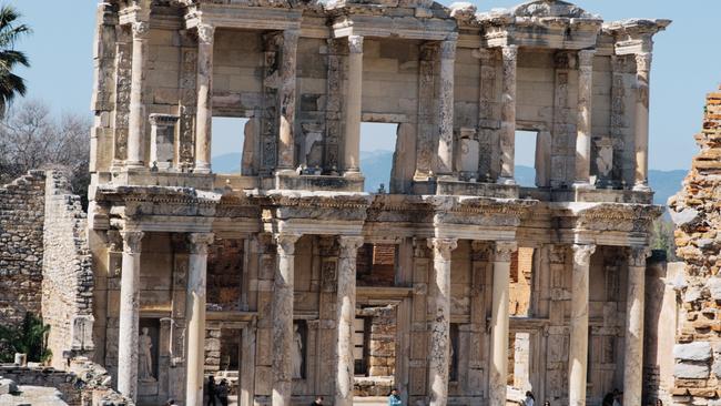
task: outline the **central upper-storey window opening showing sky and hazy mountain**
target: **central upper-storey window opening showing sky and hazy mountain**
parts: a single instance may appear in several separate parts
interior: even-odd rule
[[[387,193],[390,190],[397,131],[396,123],[360,123],[360,172],[368,193]]]

